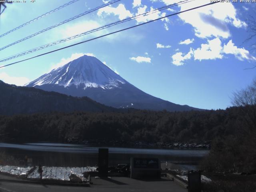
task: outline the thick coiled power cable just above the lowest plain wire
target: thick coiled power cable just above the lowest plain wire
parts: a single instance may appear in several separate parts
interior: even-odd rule
[[[30,49],[30,50],[27,50],[27,51],[24,51],[24,52],[21,52],[21,53],[12,55],[12,56],[8,56],[6,58],[2,58],[2,60],[0,60],[0,62],[4,62],[4,61],[7,61],[7,60],[18,58],[20,56],[23,56],[23,55],[26,55],[26,54],[29,54],[29,53],[32,53],[32,52],[35,52],[35,51],[42,50],[44,48],[47,48],[47,47],[50,47],[50,46],[53,46],[53,45],[56,45],[56,44],[60,44],[62,42],[66,42],[66,41],[69,41],[69,40],[72,40],[72,39],[75,39],[75,38],[78,38],[78,37],[81,37],[81,36],[84,36],[84,35],[87,35],[87,34],[90,34],[90,33],[93,33],[93,32],[97,32],[99,30],[110,28],[112,26],[115,26],[115,25],[118,25],[118,24],[130,21],[130,20],[138,19],[138,18],[141,18],[143,16],[148,16],[148,15],[154,14],[154,13],[156,13],[158,11],[162,11],[162,10],[165,10],[167,8],[171,8],[171,7],[178,6],[178,5],[185,4],[185,3],[188,3],[188,2],[192,2],[192,1],[195,1],[195,0],[190,0],[190,1],[189,0],[184,0],[184,1],[181,1],[181,2],[178,2],[178,3],[174,3],[174,4],[167,5],[167,6],[163,6],[161,8],[157,8],[157,9],[152,10],[152,11],[144,12],[144,13],[138,14],[136,16],[132,16],[132,17],[129,17],[129,18],[126,18],[126,19],[123,19],[123,20],[119,20],[117,22],[106,24],[104,26],[101,26],[101,27],[98,27],[98,28],[95,28],[95,29],[83,32],[81,34],[76,34],[76,35],[68,37],[68,38],[64,38],[64,39],[61,39],[61,40],[58,40],[58,41],[55,41],[55,42],[51,42],[49,44],[45,44],[43,46],[39,46],[39,47],[36,47],[34,49]]]

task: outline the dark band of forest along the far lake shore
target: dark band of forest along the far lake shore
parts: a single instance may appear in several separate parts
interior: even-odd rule
[[[15,141],[118,140],[201,142],[232,134],[238,108],[167,112],[74,112],[1,116],[2,137]]]

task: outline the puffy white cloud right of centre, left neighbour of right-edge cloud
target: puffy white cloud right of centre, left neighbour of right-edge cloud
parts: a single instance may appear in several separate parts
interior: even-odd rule
[[[208,44],[201,44],[201,48],[198,48],[194,51],[194,60],[214,60],[221,59],[223,55],[222,45],[219,38],[213,40],[208,40]]]

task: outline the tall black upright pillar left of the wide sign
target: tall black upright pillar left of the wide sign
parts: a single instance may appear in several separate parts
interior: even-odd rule
[[[108,177],[108,148],[99,148],[99,176]]]

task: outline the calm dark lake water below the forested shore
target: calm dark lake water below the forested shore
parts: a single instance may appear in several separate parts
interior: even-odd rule
[[[24,160],[32,158],[32,165],[43,166],[96,166],[98,148],[79,144],[60,143],[0,143],[0,151]],[[209,152],[204,149],[150,149],[108,147],[109,165],[130,163],[131,157],[156,157],[161,162],[180,164],[184,168],[196,165]]]

